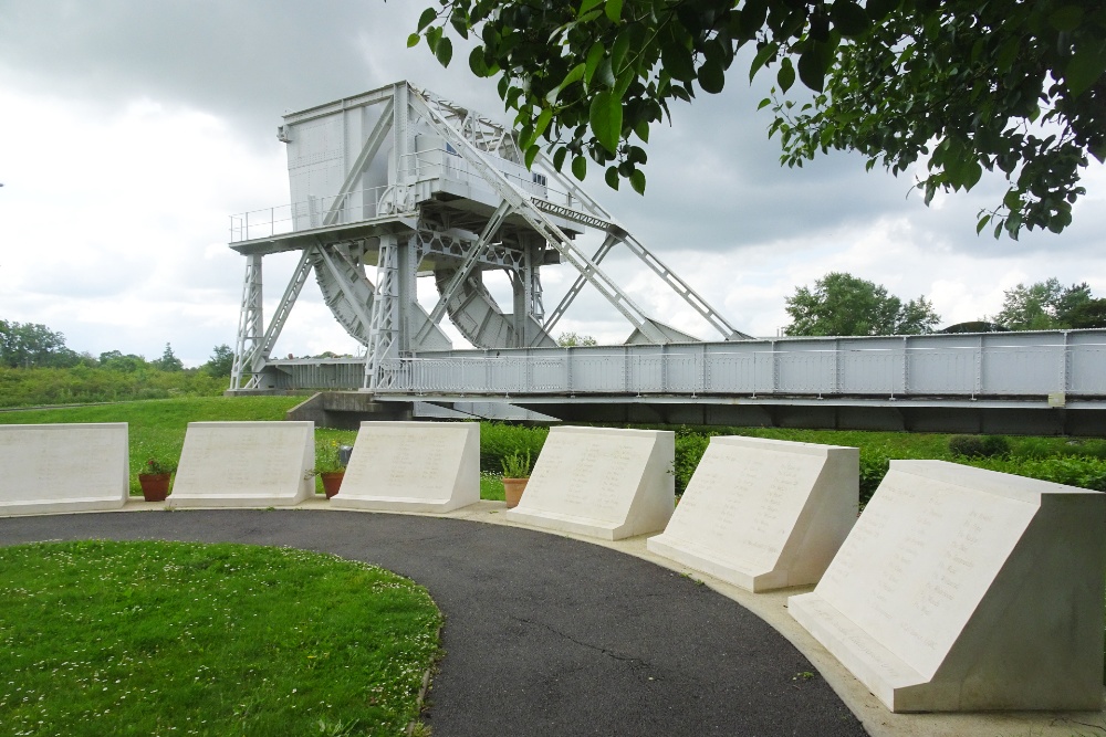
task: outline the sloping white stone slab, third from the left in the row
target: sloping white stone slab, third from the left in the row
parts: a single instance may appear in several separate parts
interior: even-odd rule
[[[451,512],[480,501],[480,423],[362,422],[330,505]]]

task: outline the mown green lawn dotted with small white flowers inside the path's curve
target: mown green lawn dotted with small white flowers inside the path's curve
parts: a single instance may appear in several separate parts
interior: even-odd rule
[[[401,735],[441,614],[426,589],[289,548],[0,548],[11,735]]]

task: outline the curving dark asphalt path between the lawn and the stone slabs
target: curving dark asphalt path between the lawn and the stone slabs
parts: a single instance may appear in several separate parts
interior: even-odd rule
[[[11,517],[0,545],[164,539],[282,545],[430,590],[446,656],[435,737],[865,735],[810,661],[706,586],[578,540],[458,519],[314,510]]]

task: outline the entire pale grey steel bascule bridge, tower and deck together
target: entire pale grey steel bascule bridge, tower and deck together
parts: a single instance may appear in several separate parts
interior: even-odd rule
[[[231,218],[246,276],[229,393],[325,392],[326,424],[369,415],[1106,435],[1106,330],[752,338],[514,131],[406,82],[284,116],[292,204]],[[585,233],[602,243],[592,253]],[[648,314],[603,269],[624,249],[716,336]],[[272,318],[265,255],[299,252]],[[546,310],[542,269],[575,281]],[[504,310],[484,283],[507,274]],[[310,276],[356,358],[276,359]],[[438,298],[427,308],[417,280]],[[585,289],[624,345],[560,347]],[[474,348],[456,349],[448,317]]]

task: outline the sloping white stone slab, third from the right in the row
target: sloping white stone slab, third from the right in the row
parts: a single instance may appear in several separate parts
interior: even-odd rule
[[[617,540],[665,528],[676,503],[676,435],[664,430],[550,430],[512,522]]]

